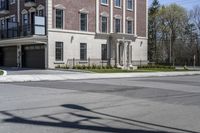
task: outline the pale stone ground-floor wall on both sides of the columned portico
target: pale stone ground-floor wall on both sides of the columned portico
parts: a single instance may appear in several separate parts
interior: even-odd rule
[[[61,62],[55,61],[55,42],[57,41],[63,42],[64,45],[64,59]],[[87,58],[91,59],[91,64],[100,65],[101,44],[107,44],[106,39],[95,39],[95,33],[90,32],[51,29],[48,32],[48,67],[55,68],[59,64],[71,64],[69,61],[72,61],[73,58],[79,60],[80,43],[87,43]],[[147,63],[147,39],[136,39],[135,42],[132,42],[132,48],[133,65]]]

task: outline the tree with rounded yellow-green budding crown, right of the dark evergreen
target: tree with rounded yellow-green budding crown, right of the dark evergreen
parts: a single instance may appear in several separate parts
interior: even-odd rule
[[[185,30],[185,22],[187,21],[187,11],[176,4],[171,4],[165,7],[162,7],[159,12],[159,21],[161,21],[159,28],[163,33],[161,33],[161,38],[165,36],[165,38],[170,39],[169,50],[168,52],[168,62],[172,63],[170,59],[172,59],[173,63],[175,61],[175,49],[174,44],[176,39],[180,37],[180,33]],[[170,55],[171,53],[171,55]]]

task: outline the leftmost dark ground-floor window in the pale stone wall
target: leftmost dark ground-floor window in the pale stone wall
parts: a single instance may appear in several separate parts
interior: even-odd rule
[[[56,61],[63,61],[63,42],[56,42]]]

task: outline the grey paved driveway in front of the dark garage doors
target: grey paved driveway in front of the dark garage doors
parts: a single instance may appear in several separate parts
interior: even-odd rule
[[[49,70],[49,69],[26,69],[26,68],[1,68],[7,71],[8,75],[59,75],[59,74],[80,74],[80,72]]]

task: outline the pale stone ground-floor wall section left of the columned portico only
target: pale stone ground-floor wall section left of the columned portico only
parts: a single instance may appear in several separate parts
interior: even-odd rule
[[[94,33],[77,33],[76,31],[49,30],[49,68],[54,68],[58,64],[68,64],[70,59],[80,59],[80,43],[87,43],[87,58],[91,60],[101,59],[101,44],[107,44],[107,40],[94,39]],[[64,43],[63,62],[55,61],[55,42]]]

